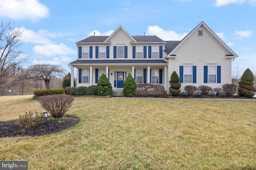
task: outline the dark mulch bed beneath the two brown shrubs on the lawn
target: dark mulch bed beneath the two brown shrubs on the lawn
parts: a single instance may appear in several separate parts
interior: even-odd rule
[[[2,137],[23,137],[23,136],[41,136],[68,129],[80,122],[80,119],[74,116],[64,116],[64,119],[48,120],[34,127],[18,127],[15,121],[0,121],[0,138]]]

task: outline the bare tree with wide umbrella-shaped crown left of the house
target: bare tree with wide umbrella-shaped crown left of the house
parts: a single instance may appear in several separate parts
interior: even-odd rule
[[[65,71],[60,65],[36,64],[28,68],[28,75],[34,80],[44,80],[47,89],[50,89],[50,81],[55,77],[62,77]]]

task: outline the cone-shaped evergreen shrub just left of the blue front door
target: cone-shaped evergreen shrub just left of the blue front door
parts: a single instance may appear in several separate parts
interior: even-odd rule
[[[111,96],[113,89],[111,83],[108,81],[106,74],[102,74],[97,83],[97,90],[99,96]]]

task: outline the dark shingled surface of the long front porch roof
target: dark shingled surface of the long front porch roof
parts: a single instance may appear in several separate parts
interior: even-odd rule
[[[164,60],[76,60],[69,64],[167,64]]]

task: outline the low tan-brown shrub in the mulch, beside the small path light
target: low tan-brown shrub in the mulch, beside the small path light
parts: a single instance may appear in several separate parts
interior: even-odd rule
[[[42,113],[39,114],[37,111],[29,111],[25,115],[20,115],[19,119],[15,121],[15,125],[19,127],[33,127],[44,122],[45,119]]]

